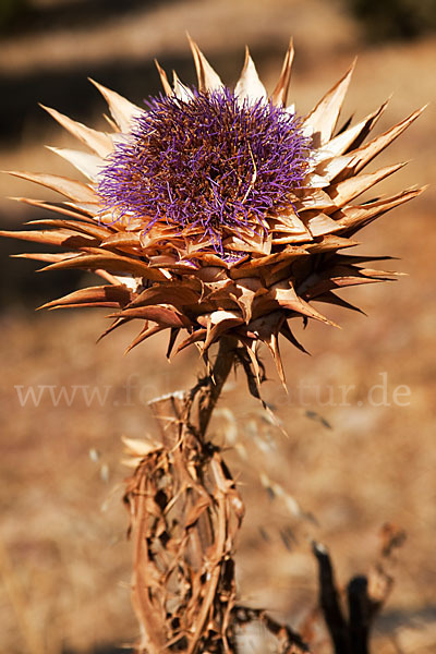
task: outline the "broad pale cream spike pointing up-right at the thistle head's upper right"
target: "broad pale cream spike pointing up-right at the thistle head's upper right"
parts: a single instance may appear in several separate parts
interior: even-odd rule
[[[343,77],[330,88],[303,121],[304,126],[308,125],[313,130],[315,146],[324,145],[331,138],[355,62],[356,60],[353,61]]]

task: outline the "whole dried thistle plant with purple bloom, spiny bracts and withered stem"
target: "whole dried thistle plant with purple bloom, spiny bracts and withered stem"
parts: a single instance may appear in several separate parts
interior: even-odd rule
[[[129,350],[167,330],[167,356],[194,344],[206,363],[193,389],[150,402],[157,434],[126,441],[135,468],[125,501],[137,651],[150,654],[233,652],[239,625],[261,616],[237,604],[233,553],[243,502],[219,448],[206,438],[211,412],[237,364],[261,398],[262,343],[286,384],[279,338],[304,351],[291,328],[295,319],[332,325],[313,301],[355,310],[336,291],[396,278],[371,267],[389,257],[348,250],[360,229],[422,191],[359,204],[403,164],[363,169],[422,110],[371,140],[387,102],[338,130],[353,65],[299,116],[288,105],[292,44],[268,95],[249,50],[230,89],[190,43],[197,88],[175,73],[170,84],[158,63],[164,93],[144,107],[95,83],[111,113],[108,132],[47,109],[88,148],[52,148],[86,181],[12,172],[66,202],[19,198],[59,217],[1,232],[61,246],[60,254],[19,255],[45,262],[44,270],[81,268],[105,280],[45,307],[106,307],[111,324],[102,336],[140,320]],[[210,360],[214,343],[219,349]],[[281,652],[307,651],[289,628],[268,620]]]

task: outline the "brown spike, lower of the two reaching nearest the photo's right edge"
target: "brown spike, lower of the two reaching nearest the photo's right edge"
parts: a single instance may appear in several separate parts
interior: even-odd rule
[[[365,227],[383,214],[386,214],[386,211],[417,197],[425,189],[426,186],[423,186],[422,189],[412,189],[362,206],[344,207],[334,214],[332,218],[337,219],[341,230],[347,230],[347,234],[352,235],[362,227]]]

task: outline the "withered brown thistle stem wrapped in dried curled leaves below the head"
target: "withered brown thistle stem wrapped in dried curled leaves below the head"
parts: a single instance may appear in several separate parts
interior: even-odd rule
[[[138,654],[235,652],[233,549],[244,506],[219,448],[205,434],[233,367],[220,340],[209,374],[190,391],[149,402],[159,446],[129,481]]]

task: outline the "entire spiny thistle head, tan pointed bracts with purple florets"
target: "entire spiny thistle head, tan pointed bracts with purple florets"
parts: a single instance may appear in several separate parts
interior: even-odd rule
[[[159,64],[164,94],[144,108],[96,84],[109,105],[110,132],[47,109],[90,150],[52,148],[87,181],[13,172],[66,202],[20,198],[60,217],[2,234],[62,246],[61,254],[19,255],[46,262],[45,270],[82,268],[106,281],[45,307],[109,308],[105,335],[140,319],[142,330],[129,349],[168,329],[167,354],[175,343],[177,351],[197,343],[205,353],[232,335],[257,374],[264,342],[284,380],[279,336],[303,349],[292,318],[331,324],[313,301],[355,308],[335,291],[395,279],[368,267],[389,257],[353,256],[348,249],[361,228],[421,193],[356,201],[403,166],[362,173],[422,110],[372,140],[386,104],[336,131],[353,66],[299,117],[287,106],[292,44],[270,96],[249,50],[231,90],[193,41],[191,47],[196,89],[175,73],[170,85]]]

